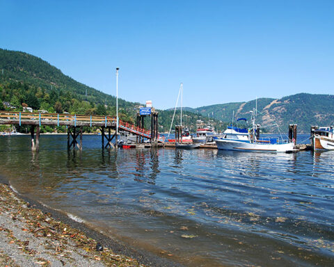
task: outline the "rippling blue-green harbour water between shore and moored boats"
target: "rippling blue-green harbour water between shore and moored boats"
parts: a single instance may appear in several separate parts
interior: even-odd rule
[[[84,136],[81,153],[66,145],[41,136],[33,154],[29,136],[1,137],[1,173],[19,193],[187,266],[333,264],[334,152],[109,152],[100,136]]]

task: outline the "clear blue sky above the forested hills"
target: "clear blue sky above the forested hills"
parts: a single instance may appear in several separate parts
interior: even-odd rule
[[[0,0],[0,47],[132,102],[334,94],[334,1]]]

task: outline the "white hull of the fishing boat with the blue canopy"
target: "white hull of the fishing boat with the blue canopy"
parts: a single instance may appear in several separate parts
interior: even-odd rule
[[[244,152],[292,152],[294,150],[294,143],[264,144],[223,139],[216,139],[215,141],[217,144],[217,148],[222,150],[234,150]]]

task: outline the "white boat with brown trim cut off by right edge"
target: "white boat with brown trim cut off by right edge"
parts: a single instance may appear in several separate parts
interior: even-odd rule
[[[312,127],[311,144],[313,150],[333,150],[334,149],[334,128]]]

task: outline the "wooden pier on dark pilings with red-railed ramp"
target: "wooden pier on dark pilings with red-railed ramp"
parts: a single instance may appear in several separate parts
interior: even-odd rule
[[[154,113],[154,128],[152,133],[148,129],[136,126],[130,122],[118,120],[118,129],[133,133],[136,136],[148,138],[151,143],[164,143],[164,136],[157,133],[157,113]],[[98,127],[102,136],[102,148],[113,148],[112,140],[115,138],[115,145],[118,145],[118,136],[116,133],[111,136],[111,129],[116,130],[117,119],[110,116],[97,115],[72,115],[58,113],[29,113],[29,112],[4,112],[0,111],[0,124],[17,124],[31,126],[31,149],[38,151],[40,140],[40,127],[48,126],[66,126],[67,127],[67,148],[78,147],[82,149],[82,127]],[[105,131],[108,131],[106,133]],[[71,141],[72,138],[72,141]],[[79,138],[79,140],[77,140]],[[106,145],[104,145],[106,139]]]

